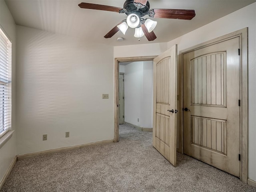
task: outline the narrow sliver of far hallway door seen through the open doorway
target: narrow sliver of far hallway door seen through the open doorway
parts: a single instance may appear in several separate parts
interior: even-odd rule
[[[124,73],[119,74],[119,124],[124,124]]]

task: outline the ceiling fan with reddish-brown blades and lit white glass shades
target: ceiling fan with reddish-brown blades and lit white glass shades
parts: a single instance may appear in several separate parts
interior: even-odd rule
[[[122,20],[112,30],[110,30],[104,38],[111,38],[119,30],[125,34],[128,27],[135,28],[134,36],[140,38],[146,36],[149,41],[156,39],[156,35],[153,30],[156,27],[156,21],[142,17],[148,15],[150,18],[169,18],[169,19],[184,19],[191,20],[196,16],[195,10],[185,9],[150,9],[148,0],[126,0],[124,2],[124,8],[99,5],[92,3],[80,3],[80,8],[95,9],[112,11],[118,13],[125,13],[128,17],[126,20]]]

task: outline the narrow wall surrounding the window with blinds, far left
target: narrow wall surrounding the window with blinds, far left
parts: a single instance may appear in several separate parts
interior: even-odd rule
[[[0,27],[12,41],[12,130],[16,129],[16,24],[8,10],[4,1],[0,0]],[[8,170],[12,160],[16,156],[16,132],[12,137],[0,148],[0,181]]]

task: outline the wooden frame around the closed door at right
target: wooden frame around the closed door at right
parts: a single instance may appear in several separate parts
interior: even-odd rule
[[[183,87],[183,55],[198,50],[207,46],[211,46],[231,38],[239,37],[239,47],[240,47],[240,91],[239,98],[241,100],[240,106],[240,133],[239,133],[239,142],[240,149],[239,152],[241,154],[240,160],[240,180],[242,182],[247,183],[248,180],[248,28],[243,28],[241,30],[237,30],[235,32],[226,34],[224,36],[215,38],[213,40],[198,44],[196,46],[192,46],[190,48],[184,49],[180,51],[180,74],[179,81],[181,82],[180,86],[180,109],[184,106],[184,87]],[[182,146],[182,154],[184,153],[184,113],[182,112],[181,116],[181,132],[180,132],[180,145]]]

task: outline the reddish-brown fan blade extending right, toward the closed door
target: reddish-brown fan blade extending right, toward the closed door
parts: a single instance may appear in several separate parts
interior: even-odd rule
[[[196,16],[195,10],[186,9],[151,9],[154,11],[154,18],[185,19],[191,20]],[[149,10],[149,13],[150,11]]]

